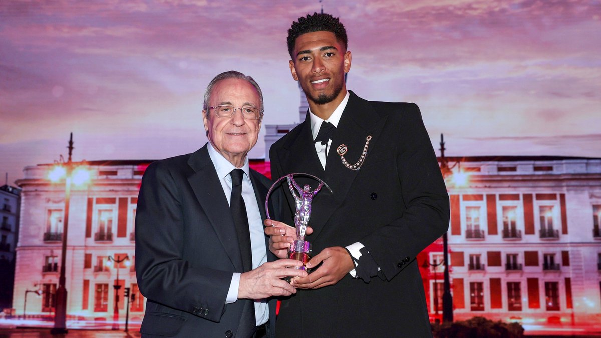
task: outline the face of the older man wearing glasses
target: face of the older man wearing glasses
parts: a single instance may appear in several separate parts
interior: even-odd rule
[[[209,106],[232,105],[234,108],[255,106],[260,108],[261,102],[257,89],[243,79],[225,79],[217,82],[210,97]],[[255,146],[261,120],[249,120],[243,117],[240,109],[234,115],[223,118],[209,110],[209,117],[203,111],[204,129],[209,132],[209,141],[224,158],[237,168],[242,167],[246,154]]]

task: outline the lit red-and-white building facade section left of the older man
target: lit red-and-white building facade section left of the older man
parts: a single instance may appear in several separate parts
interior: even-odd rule
[[[119,266],[120,321],[125,319],[124,287],[130,287],[130,321],[141,322],[144,298],[136,283],[134,220],[139,184],[151,161],[88,162],[91,182],[72,186],[66,256],[67,321],[112,321],[117,267],[108,257],[129,257]],[[65,205],[64,183],[50,183],[52,165],[25,167],[22,217],[15,269],[15,315],[50,318],[55,312]],[[41,297],[27,290],[41,291]]]

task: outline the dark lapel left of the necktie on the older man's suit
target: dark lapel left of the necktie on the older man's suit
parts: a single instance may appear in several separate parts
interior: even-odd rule
[[[225,248],[225,252],[230,257],[236,271],[242,272],[242,254],[240,253],[236,227],[206,145],[190,156],[188,165],[195,171],[194,174],[188,177],[188,182],[198,199],[198,203],[203,207],[213,230],[219,238],[219,242]]]

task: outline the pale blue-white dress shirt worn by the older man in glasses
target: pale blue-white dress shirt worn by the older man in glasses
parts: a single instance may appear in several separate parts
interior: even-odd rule
[[[215,166],[219,182],[221,182],[222,188],[224,188],[225,197],[227,203],[230,204],[231,198],[231,176],[232,170],[236,169],[233,164],[224,158],[221,153],[217,152],[213,145],[209,142],[208,144],[209,157]],[[263,219],[261,218],[261,212],[257,203],[257,197],[255,197],[255,191],[252,188],[252,182],[250,179],[250,167],[248,165],[248,156],[244,160],[242,169],[245,175],[242,178],[242,198],[246,205],[246,214],[248,215],[248,225],[251,232],[251,248],[252,248],[252,269],[256,269],[259,266],[267,262],[267,249],[265,248],[265,233],[263,227]],[[227,293],[225,304],[236,303],[238,300],[238,290],[240,287],[240,273],[234,272],[231,278],[230,290]],[[263,325],[269,320],[269,307],[266,301],[255,301],[255,318],[257,319],[257,326]]]

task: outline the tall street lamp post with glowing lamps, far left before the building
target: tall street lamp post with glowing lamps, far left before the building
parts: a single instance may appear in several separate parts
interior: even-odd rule
[[[59,165],[49,174],[50,180],[58,181],[65,178],[65,210],[63,217],[63,236],[61,239],[61,270],[58,277],[58,288],[56,289],[56,310],[54,316],[54,327],[50,330],[51,334],[67,333],[67,289],[65,287],[65,268],[67,259],[67,232],[69,230],[69,203],[71,200],[71,184],[75,182],[84,183],[89,179],[89,173],[81,168],[75,168],[75,162],[72,161],[73,154],[73,133],[69,136],[69,158],[63,162],[63,155],[60,157]]]

